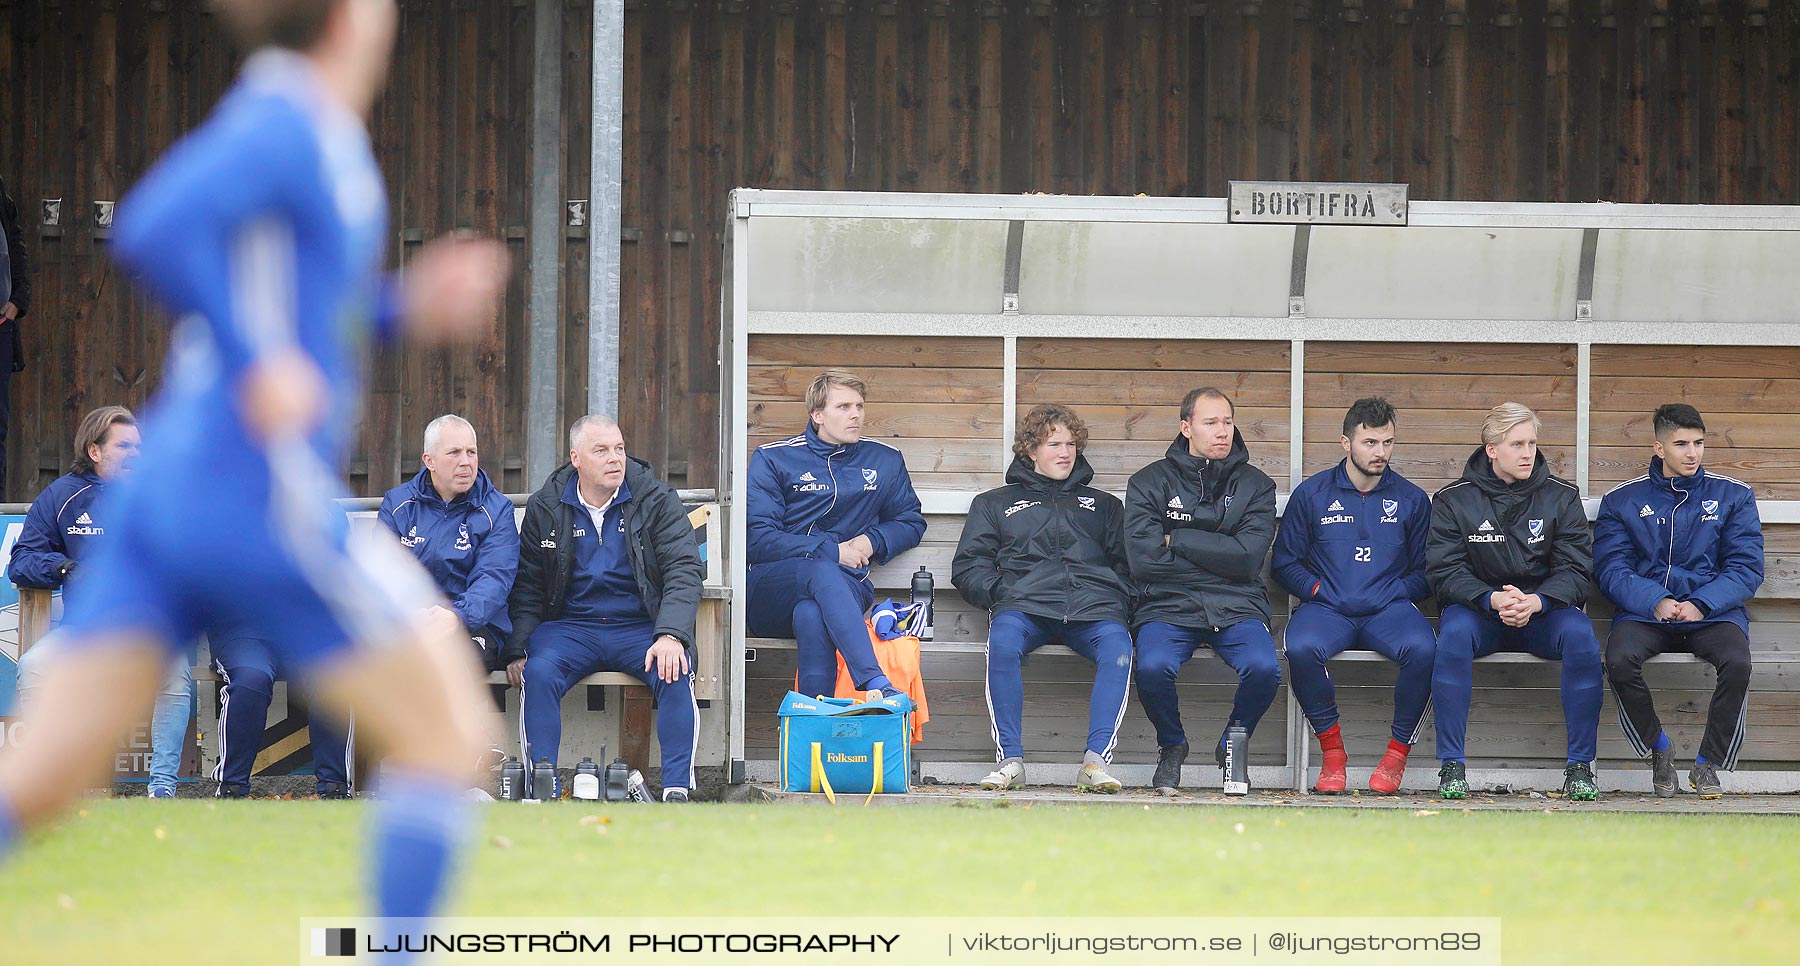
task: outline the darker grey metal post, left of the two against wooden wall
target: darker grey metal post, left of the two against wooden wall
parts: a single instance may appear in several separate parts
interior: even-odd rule
[[[531,317],[526,371],[526,480],[536,487],[562,462],[562,0],[538,0],[531,36]]]

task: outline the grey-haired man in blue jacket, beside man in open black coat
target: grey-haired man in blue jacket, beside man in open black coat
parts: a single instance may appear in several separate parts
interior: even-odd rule
[[[450,606],[432,619],[468,635],[490,671],[513,622],[506,597],[518,574],[518,527],[513,502],[481,470],[475,426],[445,414],[425,426],[425,464],[410,480],[387,491],[376,518],[419,558]]]

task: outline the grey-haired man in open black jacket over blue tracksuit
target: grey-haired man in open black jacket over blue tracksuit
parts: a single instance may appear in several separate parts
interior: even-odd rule
[[[522,693],[527,759],[556,765],[562,700],[578,680],[623,671],[655,696],[662,801],[688,801],[700,718],[691,649],[704,574],[675,487],[625,455],[616,421],[576,419],[569,462],[526,504],[513,585],[506,675]]]

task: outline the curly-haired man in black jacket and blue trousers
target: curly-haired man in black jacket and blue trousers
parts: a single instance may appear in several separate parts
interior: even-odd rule
[[[999,768],[981,788],[1024,784],[1021,664],[1037,648],[1067,644],[1094,662],[1087,750],[1076,792],[1118,792],[1107,774],[1130,694],[1130,565],[1118,496],[1087,486],[1087,425],[1067,407],[1042,405],[1019,421],[1006,486],[976,496],[950,563],[963,599],[994,613],[988,630],[988,714]]]

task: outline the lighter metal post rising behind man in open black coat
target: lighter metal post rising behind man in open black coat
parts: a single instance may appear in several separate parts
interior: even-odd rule
[[[625,0],[594,0],[594,142],[589,176],[587,412],[619,414],[619,210],[625,153]],[[655,378],[646,372],[646,378]]]

